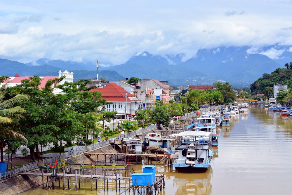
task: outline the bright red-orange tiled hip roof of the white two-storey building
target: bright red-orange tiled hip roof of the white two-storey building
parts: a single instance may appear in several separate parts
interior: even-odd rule
[[[125,89],[123,89],[116,83],[109,83],[103,88],[91,89],[89,91],[101,92],[102,98],[106,99],[107,101],[124,102],[126,101],[126,96],[127,96],[127,101],[130,102],[132,100],[129,98],[129,96],[133,96],[133,94],[130,94],[129,92],[127,92]]]

